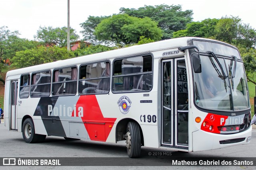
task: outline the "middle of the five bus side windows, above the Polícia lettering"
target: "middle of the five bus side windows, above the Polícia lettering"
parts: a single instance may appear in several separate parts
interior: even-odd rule
[[[76,67],[54,70],[52,80],[52,96],[75,95],[76,87]]]

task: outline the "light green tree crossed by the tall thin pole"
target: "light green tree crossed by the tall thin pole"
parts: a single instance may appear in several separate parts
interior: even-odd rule
[[[44,42],[49,46],[58,45],[59,47],[67,46],[67,27],[39,27],[34,38],[38,41]],[[70,43],[77,41],[79,35],[70,27]]]

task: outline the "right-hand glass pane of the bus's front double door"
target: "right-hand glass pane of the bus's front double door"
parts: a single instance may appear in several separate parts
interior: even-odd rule
[[[177,144],[188,145],[188,80],[185,60],[177,61]]]

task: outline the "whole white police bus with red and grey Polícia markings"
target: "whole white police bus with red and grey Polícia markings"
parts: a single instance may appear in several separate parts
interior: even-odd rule
[[[198,51],[188,45],[200,51],[201,72],[193,63]],[[211,98],[202,85],[206,66],[218,90]],[[9,71],[4,123],[27,143],[46,135],[126,140],[130,157],[138,157],[141,146],[191,152],[248,144],[243,78],[238,50],[220,41],[183,37],[135,45]]]

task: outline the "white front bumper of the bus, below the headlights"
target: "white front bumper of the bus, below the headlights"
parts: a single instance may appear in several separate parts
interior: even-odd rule
[[[212,150],[250,143],[252,126],[246,131],[229,135],[209,133],[201,129],[192,133],[193,151]],[[243,140],[244,139],[244,140]]]

